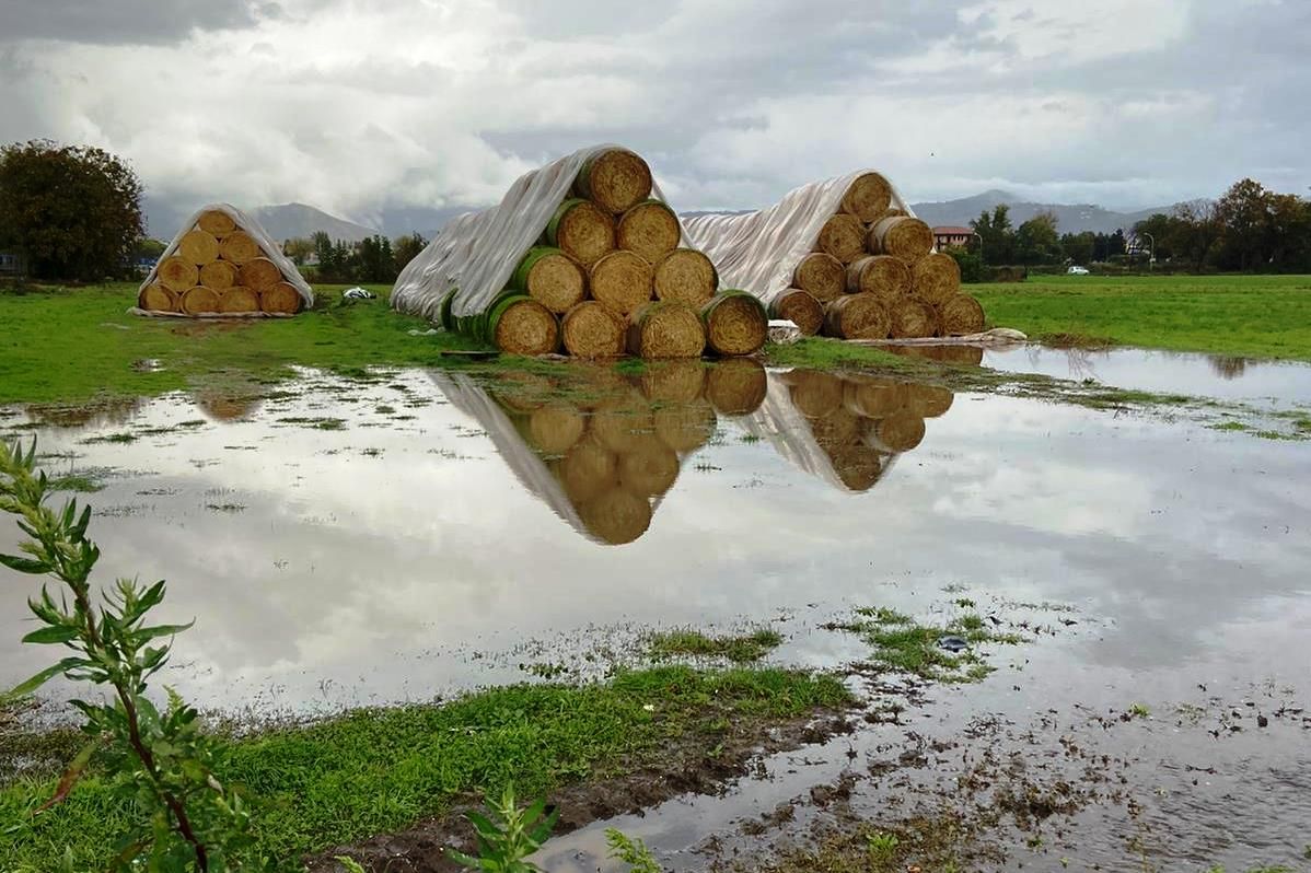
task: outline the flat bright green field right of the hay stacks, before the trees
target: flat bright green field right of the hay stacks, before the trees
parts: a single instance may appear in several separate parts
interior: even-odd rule
[[[966,288],[1033,338],[1311,360],[1311,277],[1040,277]]]

